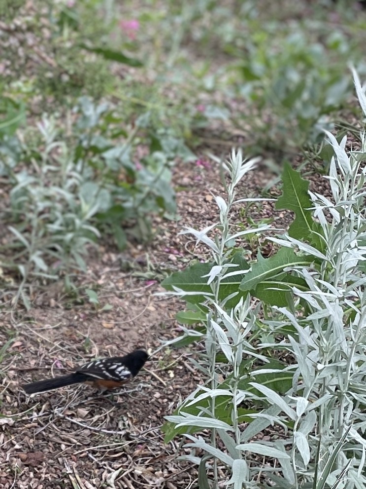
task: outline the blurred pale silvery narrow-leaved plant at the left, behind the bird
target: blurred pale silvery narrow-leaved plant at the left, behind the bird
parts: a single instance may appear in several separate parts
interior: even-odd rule
[[[89,198],[89,202],[84,198],[87,189],[83,187],[81,164],[73,163],[67,144],[58,140],[53,118],[43,117],[38,130],[44,148],[38,152],[38,159],[31,158],[32,171],[25,168],[12,172],[10,191],[16,224],[8,229],[14,235],[17,252],[6,265],[17,268],[22,276],[13,303],[21,298],[27,308],[29,281],[56,279],[57,269],[70,264],[86,269],[83,256],[87,245],[100,236],[90,220],[101,206],[96,198]]]

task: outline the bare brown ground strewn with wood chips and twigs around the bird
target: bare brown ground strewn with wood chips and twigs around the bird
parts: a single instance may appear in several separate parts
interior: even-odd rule
[[[265,171],[251,172],[238,198],[258,196],[268,178]],[[313,180],[313,186],[326,185],[320,176]],[[1,362],[1,488],[195,487],[197,468],[178,459],[181,440],[164,443],[161,426],[180,399],[203,382],[190,364],[199,346],[160,349],[113,397],[75,385],[32,397],[20,388],[96,356],[117,356],[134,347],[154,352],[162,341],[179,335],[174,318],[183,304],[155,294],[163,291],[159,283],[168,270],[207,258],[207,250],[195,248],[189,236],[178,233],[183,226],[213,224],[218,218],[213,195],[225,193],[219,165],[203,158],[178,164],[174,183],[180,188],[180,220],[157,219],[150,246],[131,245],[119,254],[104,245],[91,254],[88,273],[79,284],[98,284],[98,308],[70,300],[62,284],[55,284],[37,293],[26,315],[2,315],[1,343],[14,328],[16,338]],[[278,195],[278,189],[272,194]],[[254,220],[272,217],[277,228],[291,221],[288,214],[274,210],[273,202],[252,208],[250,215]],[[233,219],[243,222],[239,215]],[[100,311],[104,304],[112,307]]]

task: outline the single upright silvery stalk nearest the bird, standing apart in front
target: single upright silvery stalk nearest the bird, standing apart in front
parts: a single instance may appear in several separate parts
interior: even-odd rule
[[[230,481],[227,481],[229,487],[241,487],[241,483],[250,480],[249,465],[242,456],[242,451],[246,451],[247,448],[245,445],[241,445],[238,409],[247,398],[252,398],[253,394],[243,391],[238,384],[242,375],[240,367],[243,356],[249,357],[253,361],[257,359],[262,363],[268,361],[265,355],[256,351],[250,340],[259,305],[252,309],[248,295],[245,299],[241,297],[235,307],[227,311],[226,303],[237,292],[224,300],[220,300],[219,291],[223,279],[243,273],[243,270],[238,269],[237,264],[230,263],[229,257],[233,243],[248,233],[262,233],[270,228],[267,225],[262,225],[256,229],[233,232],[233,223],[231,222],[233,206],[238,203],[263,200],[236,198],[238,183],[244,175],[255,167],[256,162],[257,159],[243,161],[241,151],[233,151],[231,159],[223,165],[230,181],[226,188],[227,200],[225,201],[222,197],[215,198],[220,210],[219,222],[201,231],[187,228],[182,232],[183,234],[193,234],[198,242],[206,244],[211,250],[215,263],[207,275],[207,284],[211,287],[211,293],[205,295],[205,305],[209,308],[205,323],[206,331],[200,334],[184,328],[186,336],[194,335],[197,339],[204,340],[204,359],[200,364],[196,362],[195,364],[209,380],[206,385],[199,386],[185,400],[179,409],[179,414],[167,417],[169,421],[176,424],[177,428],[187,427],[186,437],[191,443],[187,443],[186,448],[191,449],[191,454],[185,458],[200,465],[200,487],[202,488],[209,487],[207,486],[209,479],[212,479],[214,487],[218,487],[220,483],[218,465],[220,464],[231,469],[231,478]],[[213,229],[216,229],[217,233],[215,238],[211,239],[207,234]],[[186,292],[180,291],[177,287],[173,287],[173,289],[175,295],[187,295]],[[224,354],[226,358],[224,367],[217,361],[219,353]],[[230,379],[223,388],[220,377],[228,373],[230,373]],[[218,415],[218,412],[223,409],[223,404],[227,403],[230,404],[228,422],[222,419],[221,414]],[[197,414],[192,413],[192,408],[197,411]],[[189,433],[191,428],[200,430],[209,428],[211,430],[209,440],[202,436],[191,435]],[[220,448],[222,446],[225,448]],[[199,457],[196,454],[198,450],[203,450],[205,455]],[[260,455],[269,455],[266,446],[260,444],[253,444],[251,451]],[[271,451],[272,456],[276,456],[276,454],[281,457],[287,456],[276,450]],[[213,460],[212,471],[209,471],[209,475],[207,475],[206,466],[209,466],[210,459]]]

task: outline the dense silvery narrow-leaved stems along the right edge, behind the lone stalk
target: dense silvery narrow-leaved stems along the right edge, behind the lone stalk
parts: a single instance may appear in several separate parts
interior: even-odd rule
[[[355,72],[354,79],[366,115],[365,93]],[[295,298],[306,302],[307,315],[299,317],[289,309],[278,308],[286,320],[279,320],[277,327],[282,329],[287,324],[294,328],[286,346],[297,364],[293,365],[296,368],[293,388],[286,402],[296,413],[288,413],[293,421],[291,465],[283,471],[283,477],[289,487],[295,488],[311,480],[319,484],[313,487],[321,487],[322,479],[315,480],[314,472],[320,474],[324,469],[335,440],[347,426],[349,438],[334,458],[327,484],[334,484],[340,474],[344,475],[346,466],[342,487],[364,487],[366,483],[363,470],[366,443],[362,436],[366,429],[365,133],[361,148],[349,153],[345,150],[346,138],[338,144],[332,134],[327,133],[327,137],[334,150],[329,175],[332,199],[309,192],[325,251],[321,253],[289,236],[272,239],[281,246],[313,255],[320,263],[295,269],[308,286],[305,292],[293,287]],[[272,407],[284,411],[273,393],[266,392],[266,396]],[[256,425],[263,429],[263,424],[254,421],[248,428],[250,436],[257,432]]]

